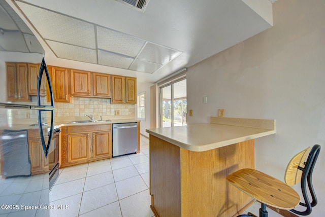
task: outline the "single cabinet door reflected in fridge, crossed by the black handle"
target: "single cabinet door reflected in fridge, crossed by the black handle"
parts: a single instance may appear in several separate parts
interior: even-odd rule
[[[28,94],[30,96],[37,96],[37,80],[40,73],[40,65],[39,64],[30,64],[28,63]],[[42,77],[42,86],[40,95],[46,95],[46,77]]]

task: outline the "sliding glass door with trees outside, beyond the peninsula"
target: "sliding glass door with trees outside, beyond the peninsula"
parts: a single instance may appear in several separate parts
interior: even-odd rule
[[[186,79],[160,88],[160,127],[186,125]]]

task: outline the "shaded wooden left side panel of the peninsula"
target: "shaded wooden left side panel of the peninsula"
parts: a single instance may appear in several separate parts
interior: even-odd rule
[[[181,216],[180,148],[150,135],[150,159],[151,206],[159,216]]]

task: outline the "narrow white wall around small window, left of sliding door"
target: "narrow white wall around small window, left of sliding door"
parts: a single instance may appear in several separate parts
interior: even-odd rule
[[[152,83],[137,82],[137,94],[146,93],[145,98],[145,109],[146,109],[146,120],[141,120],[140,122],[140,133],[149,137],[146,129],[150,128],[150,86]],[[136,118],[138,118],[138,111],[136,111]]]

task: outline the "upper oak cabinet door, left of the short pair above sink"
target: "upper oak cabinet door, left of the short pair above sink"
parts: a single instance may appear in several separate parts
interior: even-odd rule
[[[91,81],[88,71],[71,69],[71,95],[90,96]]]

